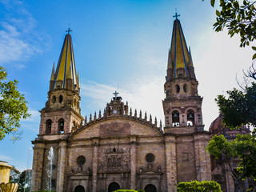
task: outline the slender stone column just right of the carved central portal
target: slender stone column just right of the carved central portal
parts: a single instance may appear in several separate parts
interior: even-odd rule
[[[136,189],[137,138],[130,137],[130,189]]]

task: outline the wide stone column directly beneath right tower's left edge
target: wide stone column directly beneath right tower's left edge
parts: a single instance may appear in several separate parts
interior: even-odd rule
[[[176,139],[166,135],[166,186],[168,192],[177,191]]]

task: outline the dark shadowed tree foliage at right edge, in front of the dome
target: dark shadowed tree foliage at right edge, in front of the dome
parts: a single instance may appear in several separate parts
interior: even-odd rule
[[[227,98],[218,95],[215,101],[223,114],[222,122],[230,128],[239,128],[250,124],[256,126],[256,84],[246,86],[244,90],[228,90]]]

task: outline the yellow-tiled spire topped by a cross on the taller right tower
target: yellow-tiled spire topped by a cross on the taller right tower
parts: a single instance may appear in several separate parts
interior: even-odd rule
[[[182,31],[182,26],[178,20],[178,14],[174,15],[174,29],[170,44],[167,70],[171,70],[171,78],[195,78],[194,67],[190,50],[186,46],[186,40]],[[190,69],[190,68],[193,69]],[[168,74],[167,74],[168,75]]]

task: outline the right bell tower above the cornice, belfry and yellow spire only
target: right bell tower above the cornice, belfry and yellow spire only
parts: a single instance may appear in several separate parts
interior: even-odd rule
[[[177,128],[203,130],[202,97],[198,95],[198,81],[194,74],[194,66],[190,48],[182,26],[174,17],[174,29],[170,44],[166,83],[166,98],[162,102],[165,114],[166,131],[177,132]]]

